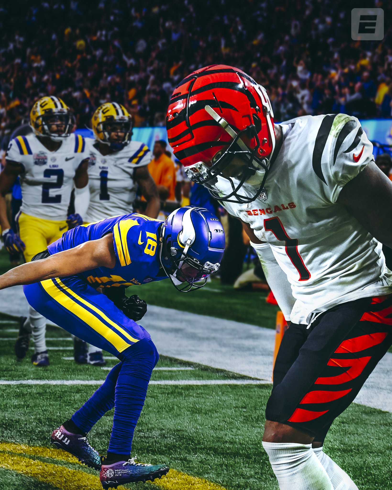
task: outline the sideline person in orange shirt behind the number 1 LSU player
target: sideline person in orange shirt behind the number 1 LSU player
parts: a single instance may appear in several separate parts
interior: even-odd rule
[[[155,142],[152,154],[154,158],[148,164],[148,172],[154,179],[161,200],[175,200],[175,167],[174,162],[165,154],[166,141]]]

